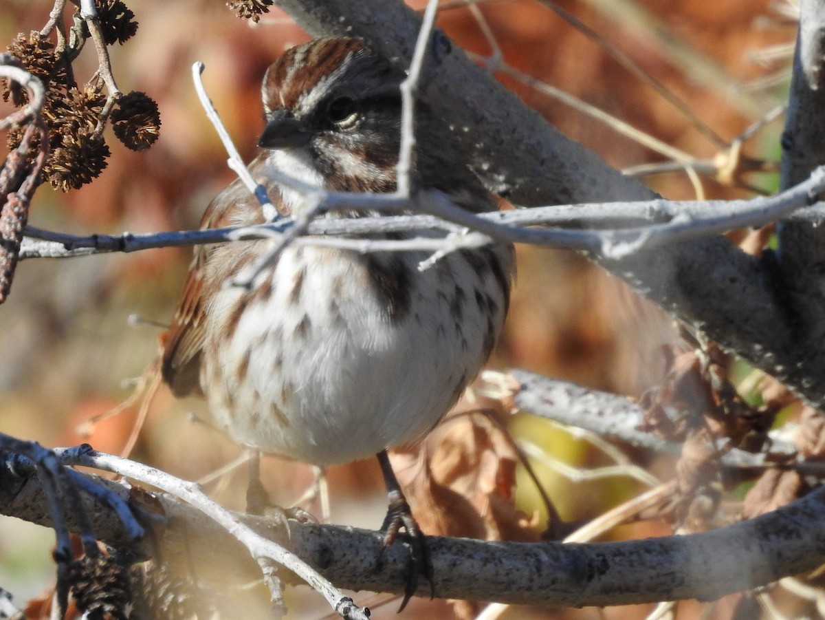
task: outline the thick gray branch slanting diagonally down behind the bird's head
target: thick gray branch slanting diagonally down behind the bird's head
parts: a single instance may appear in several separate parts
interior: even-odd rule
[[[313,35],[356,35],[405,64],[419,18],[401,2],[281,0]],[[460,50],[436,41],[428,69],[430,105],[472,149],[474,167],[517,204],[647,200],[653,196],[595,154],[560,135]],[[825,144],[825,140],[823,143]],[[809,172],[809,169],[808,169]],[[610,272],[724,347],[778,377],[811,402],[825,404],[825,348],[798,364],[800,341],[781,283],[758,258],[711,237],[601,260]],[[823,305],[825,307],[825,305]]]

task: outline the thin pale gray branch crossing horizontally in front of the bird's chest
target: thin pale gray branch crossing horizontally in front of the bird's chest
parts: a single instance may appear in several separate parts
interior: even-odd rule
[[[696,239],[744,228],[759,227],[785,218],[802,221],[825,220],[825,206],[809,206],[825,191],[825,167],[818,168],[806,181],[770,197],[742,201],[665,201],[655,199],[639,202],[593,203],[576,206],[547,206],[516,211],[495,211],[475,215],[450,203],[446,197],[421,201],[403,199],[388,194],[358,194],[320,192],[323,199],[319,211],[346,211],[351,208],[370,211],[398,212],[413,208],[432,215],[397,215],[357,219],[279,220],[268,225],[192,230],[177,233],[121,235],[93,234],[77,237],[27,227],[21,258],[66,258],[92,253],[134,252],[168,246],[214,244],[238,239],[271,239],[273,235],[290,231],[295,239],[290,243],[327,245],[349,248],[358,252],[375,251],[437,251],[479,247],[495,241],[535,244],[554,248],[583,249],[621,258],[626,253],[643,248],[662,246],[685,239]],[[433,198],[433,196],[430,196]],[[793,217],[790,215],[794,214]],[[618,228],[625,220],[629,228]],[[640,221],[653,222],[639,225]],[[527,226],[589,226],[589,230],[559,230],[527,228]],[[610,228],[606,228],[610,226]],[[463,229],[470,229],[464,232]],[[601,230],[600,230],[601,229]],[[298,234],[370,234],[411,230],[441,230],[450,234],[441,238],[401,240],[322,239]],[[40,239],[35,242],[32,239]],[[282,247],[283,237],[281,237]],[[43,243],[46,242],[46,243]],[[257,274],[260,266],[254,268]],[[248,274],[244,281],[248,280]]]

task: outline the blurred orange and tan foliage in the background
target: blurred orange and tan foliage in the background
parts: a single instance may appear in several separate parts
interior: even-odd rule
[[[252,26],[216,0],[127,4],[139,29],[125,45],[112,48],[113,73],[124,92],[144,91],[158,102],[160,138],[141,153],[107,140],[112,155],[101,177],[74,192],[41,187],[31,208],[32,225],[77,234],[195,228],[207,203],[233,173],[197,102],[191,64],[205,63],[210,97],[241,154],[251,159],[262,129],[262,75],[285,48],[308,38],[277,10]],[[421,8],[423,2],[411,4]],[[438,24],[465,49],[490,56],[496,50],[485,38],[476,9],[467,4],[445,2]],[[787,46],[795,36],[788,17],[794,11],[791,2],[577,0],[559,6],[684,100],[724,141],[784,101],[790,75]],[[489,0],[476,7],[509,67],[580,97],[696,159],[724,155],[724,148],[708,140],[694,120],[543,2]],[[10,43],[18,32],[40,29],[50,9],[50,2],[40,0],[0,0],[0,41]],[[75,64],[78,81],[90,78],[96,67],[93,50],[84,50]],[[538,88],[507,76],[502,81],[566,135],[617,168],[665,160]],[[749,140],[747,154],[775,161],[780,123],[766,125]],[[770,174],[749,180],[759,187],[775,185]],[[644,181],[667,198],[697,196],[695,184],[682,171]],[[706,177],[701,187],[709,198],[752,195]],[[12,296],[0,307],[2,431],[47,446],[88,441],[97,449],[120,452],[134,425],[133,409],[97,424],[88,438],[78,435],[78,425],[125,400],[130,381],[153,362],[160,329],[135,325],[129,318],[169,321],[189,255],[185,248],[167,248],[21,263]],[[575,253],[521,247],[518,271],[494,367],[523,367],[626,395],[640,395],[662,380],[661,346],[676,338],[667,316]],[[238,447],[196,421],[204,415],[199,401],[174,400],[161,388],[133,457],[192,480],[224,466],[238,455]],[[575,466],[595,466],[603,459],[587,444],[539,419],[517,418],[512,432]],[[667,459],[645,466],[662,480],[671,476],[672,461]],[[283,504],[301,495],[311,480],[306,466],[267,459],[264,467],[273,499]],[[578,483],[539,462],[535,468],[564,518],[592,518],[640,490],[638,482],[624,477]],[[328,473],[333,523],[379,527],[384,499],[375,464],[365,461]],[[242,467],[208,488],[224,504],[240,508],[245,480]],[[519,481],[521,509],[527,514],[540,510],[530,482],[522,477]],[[622,528],[617,535],[668,531],[660,523],[645,522]],[[52,579],[45,551],[52,541],[48,530],[0,519],[0,585],[12,590],[18,601]],[[314,603],[291,598],[295,595],[287,600],[295,617],[311,613]],[[410,617],[443,613],[439,603],[414,605]],[[717,612],[724,607],[720,603]],[[606,610],[601,616],[587,609],[511,613],[512,618],[643,618],[649,611],[649,606],[639,606]]]

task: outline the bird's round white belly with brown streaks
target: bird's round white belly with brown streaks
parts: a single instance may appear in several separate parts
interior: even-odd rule
[[[201,377],[235,441],[319,465],[369,457],[427,433],[474,378],[503,321],[494,278],[459,254],[424,272],[416,254],[370,256],[289,248],[268,294],[247,295]],[[241,295],[222,291],[212,324]]]

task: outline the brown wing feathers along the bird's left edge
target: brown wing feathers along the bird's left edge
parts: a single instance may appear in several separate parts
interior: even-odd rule
[[[254,172],[262,164],[258,158],[250,166]],[[270,189],[271,200],[278,204],[280,196]],[[273,194],[276,194],[273,196]],[[263,222],[261,207],[243,183],[236,180],[206,208],[200,228],[222,228],[232,225],[252,225]],[[183,286],[181,304],[178,305],[172,326],[161,336],[163,346],[163,381],[172,393],[184,396],[200,392],[200,351],[205,338],[205,298],[203,295],[205,263],[211,246],[199,245],[189,267],[189,275]]]

